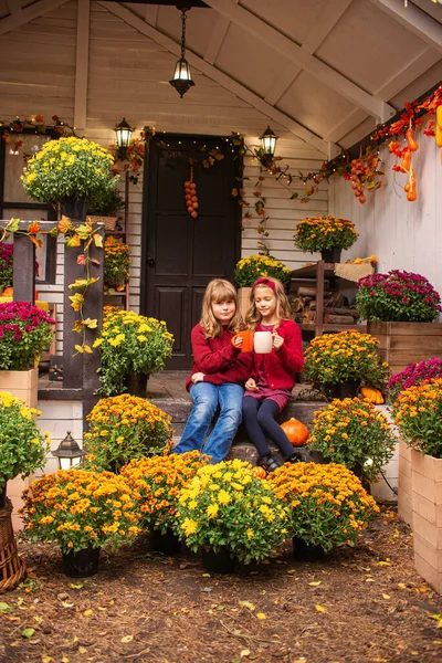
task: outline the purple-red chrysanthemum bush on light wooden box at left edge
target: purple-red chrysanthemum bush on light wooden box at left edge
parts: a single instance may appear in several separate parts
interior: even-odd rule
[[[55,320],[29,302],[0,304],[0,370],[28,370],[46,348]]]

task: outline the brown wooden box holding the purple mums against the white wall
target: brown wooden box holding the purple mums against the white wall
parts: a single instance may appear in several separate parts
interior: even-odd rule
[[[379,340],[379,355],[392,373],[442,357],[442,323],[368,323],[367,333]]]

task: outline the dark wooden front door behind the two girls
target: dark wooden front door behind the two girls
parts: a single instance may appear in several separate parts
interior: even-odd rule
[[[211,278],[233,280],[241,250],[241,211],[231,192],[242,166],[236,152],[204,168],[210,150],[225,138],[161,135],[150,139],[144,187],[141,313],[166,320],[175,336],[169,369],[190,368],[190,332],[200,319]],[[236,157],[236,158],[235,158]],[[199,209],[186,209],[185,182],[193,180]]]

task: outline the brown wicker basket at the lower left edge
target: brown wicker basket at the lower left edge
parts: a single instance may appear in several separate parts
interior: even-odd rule
[[[27,575],[24,561],[17,551],[11,514],[12,503],[7,498],[0,509],[0,593],[17,587]]]

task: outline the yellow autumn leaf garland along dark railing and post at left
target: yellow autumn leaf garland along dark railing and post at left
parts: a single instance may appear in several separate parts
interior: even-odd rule
[[[36,220],[29,224],[28,230],[20,230],[19,225],[20,219],[11,219],[4,228],[0,227],[0,241],[14,234],[22,234],[27,235],[35,246],[42,246],[42,241],[36,236],[40,233],[48,234],[51,238],[63,234],[64,244],[67,248],[81,246],[82,242],[84,243],[83,253],[77,257],[77,264],[84,267],[85,276],[83,278],[75,278],[75,282],[71,283],[67,287],[71,291],[76,291],[74,295],[70,296],[71,307],[78,314],[78,319],[75,320],[73,330],[82,336],[81,344],[75,345],[76,351],[74,352],[74,357],[82,352],[92,355],[93,350],[86,344],[86,329],[96,329],[98,320],[96,318],[85,318],[83,307],[88,288],[98,281],[98,278],[91,276],[90,271],[91,264],[99,265],[99,261],[90,255],[92,244],[103,249],[103,236],[97,232],[97,224],[93,223],[90,219],[85,223],[75,224],[69,217],[62,217],[61,221],[57,223],[54,222],[52,230],[42,230]]]

